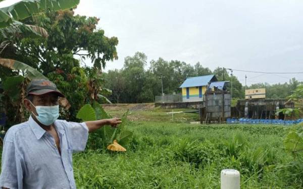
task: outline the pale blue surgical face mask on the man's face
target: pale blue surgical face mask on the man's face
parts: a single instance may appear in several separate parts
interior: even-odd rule
[[[32,104],[32,102],[30,102]],[[33,104],[32,104],[33,105]],[[34,105],[33,105],[34,106]],[[38,115],[35,115],[37,120],[43,125],[51,125],[59,117],[59,105],[55,106],[34,106]]]

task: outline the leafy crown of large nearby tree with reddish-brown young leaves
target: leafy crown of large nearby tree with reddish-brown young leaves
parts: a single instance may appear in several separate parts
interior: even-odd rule
[[[78,58],[90,58],[93,67],[101,70],[106,61],[117,59],[116,37],[108,38],[104,30],[96,29],[95,17],[74,16],[73,11],[49,12],[26,19],[30,25],[45,28],[48,38],[23,38],[14,44],[15,54],[21,61],[40,70],[43,75],[60,69],[70,72],[79,67]],[[27,54],[27,56],[20,56]]]

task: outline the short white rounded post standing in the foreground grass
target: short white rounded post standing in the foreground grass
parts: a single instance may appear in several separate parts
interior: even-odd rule
[[[240,172],[235,169],[223,169],[221,189],[240,189]]]

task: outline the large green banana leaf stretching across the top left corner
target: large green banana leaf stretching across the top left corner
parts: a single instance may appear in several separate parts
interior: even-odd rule
[[[0,28],[23,20],[34,14],[50,11],[60,11],[76,7],[80,0],[23,0],[9,7],[0,9]]]

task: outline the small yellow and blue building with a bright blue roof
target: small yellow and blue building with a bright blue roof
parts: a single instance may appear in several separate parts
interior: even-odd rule
[[[182,88],[182,101],[203,101],[209,84],[217,81],[218,80],[215,75],[186,78],[186,80],[180,86],[180,88]]]

